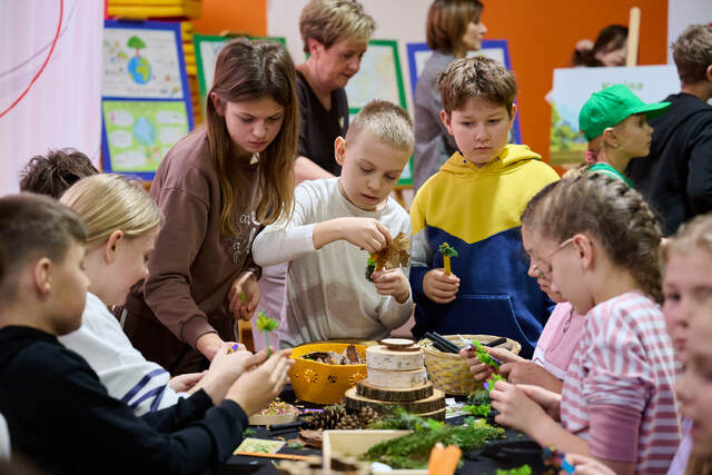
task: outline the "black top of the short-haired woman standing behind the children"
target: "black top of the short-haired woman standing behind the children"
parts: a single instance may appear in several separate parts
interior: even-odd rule
[[[342,167],[334,158],[334,140],[346,137],[348,101],[346,91],[332,91],[332,109],[326,110],[301,72],[297,70],[299,97],[299,144],[297,154],[336,176]]]

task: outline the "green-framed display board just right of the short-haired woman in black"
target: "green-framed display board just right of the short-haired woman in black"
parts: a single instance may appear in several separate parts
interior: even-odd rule
[[[398,43],[394,40],[370,40],[360,60],[360,68],[346,85],[348,113],[353,118],[373,99],[383,99],[407,109]],[[405,166],[398,186],[413,185],[413,158]]]

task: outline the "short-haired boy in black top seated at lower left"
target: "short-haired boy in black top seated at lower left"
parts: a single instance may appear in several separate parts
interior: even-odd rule
[[[286,354],[265,364],[266,353],[241,358],[243,368],[261,366],[243,369],[238,382],[225,370],[231,379],[212,378],[175,406],[136,417],[57,340],[81,324],[85,240],[81,219],[65,205],[29,194],[0,198],[0,413],[13,452],[71,474],[202,473],[225,462],[247,415],[286,382]],[[224,353],[217,364],[233,356]],[[225,399],[214,405],[225,385]]]

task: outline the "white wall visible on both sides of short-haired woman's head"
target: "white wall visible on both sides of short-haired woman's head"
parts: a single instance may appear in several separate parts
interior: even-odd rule
[[[267,34],[285,37],[295,62],[305,60],[299,36],[299,13],[308,0],[268,0]],[[425,20],[432,0],[360,0],[364,10],[376,20],[374,39],[397,40],[408,109],[413,110],[411,72],[406,43],[425,41]]]

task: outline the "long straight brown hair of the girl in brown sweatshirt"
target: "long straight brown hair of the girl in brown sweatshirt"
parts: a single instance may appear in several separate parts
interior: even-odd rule
[[[273,41],[236,39],[218,56],[212,92],[226,102],[271,98],[285,108],[277,137],[259,154],[261,192],[255,210],[257,221],[268,225],[286,211],[294,199],[294,158],[297,151],[299,111],[295,89],[295,67],[287,50]],[[226,235],[235,235],[235,201],[248,197],[254,184],[244,176],[240,164],[230,152],[231,139],[225,117],[218,115],[212,101],[206,101],[206,127],[212,164],[220,178],[220,225]]]

